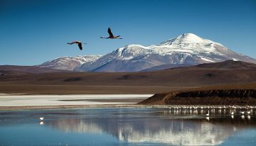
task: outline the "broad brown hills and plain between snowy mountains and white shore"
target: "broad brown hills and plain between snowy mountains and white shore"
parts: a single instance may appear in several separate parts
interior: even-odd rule
[[[46,69],[41,73],[38,67],[21,68],[18,67],[18,74],[16,67],[1,70],[15,74],[0,75],[0,93],[155,94],[215,85],[233,87],[255,83],[256,86],[256,64],[232,60],[154,72],[60,72]]]

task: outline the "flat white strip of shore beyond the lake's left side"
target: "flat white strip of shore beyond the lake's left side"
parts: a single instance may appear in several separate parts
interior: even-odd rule
[[[152,94],[1,95],[0,108],[65,108],[134,104]]]

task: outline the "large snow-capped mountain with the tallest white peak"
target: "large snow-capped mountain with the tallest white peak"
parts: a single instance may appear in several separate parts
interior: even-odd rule
[[[92,62],[75,67],[75,71],[137,72],[164,64],[201,64],[239,60],[256,63],[252,57],[240,55],[220,43],[192,33],[179,35],[159,45],[127,45]]]

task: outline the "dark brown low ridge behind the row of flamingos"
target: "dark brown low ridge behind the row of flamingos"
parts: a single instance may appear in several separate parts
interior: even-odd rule
[[[256,105],[256,89],[213,89],[155,94],[139,104]]]

